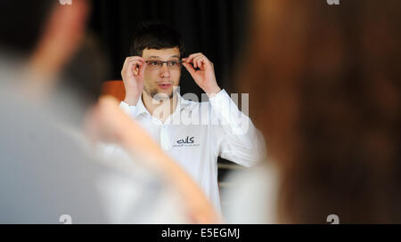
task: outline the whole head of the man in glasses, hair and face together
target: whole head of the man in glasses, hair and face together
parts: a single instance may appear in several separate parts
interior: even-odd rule
[[[130,54],[149,60],[144,69],[143,92],[152,98],[158,93],[165,95],[157,97],[171,98],[181,77],[181,63],[176,60],[184,56],[184,42],[176,30],[159,23],[143,23],[135,33]],[[160,66],[159,60],[171,62]]]

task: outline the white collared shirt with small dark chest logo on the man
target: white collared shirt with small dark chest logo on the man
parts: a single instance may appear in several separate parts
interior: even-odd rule
[[[164,123],[151,116],[142,97],[136,106],[121,101],[120,107],[190,174],[221,211],[217,157],[239,165],[255,165],[265,156],[265,141],[225,90],[205,102],[187,101],[177,95],[176,109]],[[114,147],[111,152],[120,151]]]

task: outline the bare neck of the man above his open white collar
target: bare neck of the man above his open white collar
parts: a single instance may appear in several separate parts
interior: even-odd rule
[[[148,93],[143,92],[142,101],[151,116],[159,118],[162,122],[174,113],[176,110],[178,95],[173,94],[173,97],[166,100],[155,100]]]

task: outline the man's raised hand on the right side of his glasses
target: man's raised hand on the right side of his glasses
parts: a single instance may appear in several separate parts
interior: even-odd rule
[[[205,93],[210,96],[221,91],[217,85],[213,63],[203,53],[192,53],[183,60],[184,68]]]

